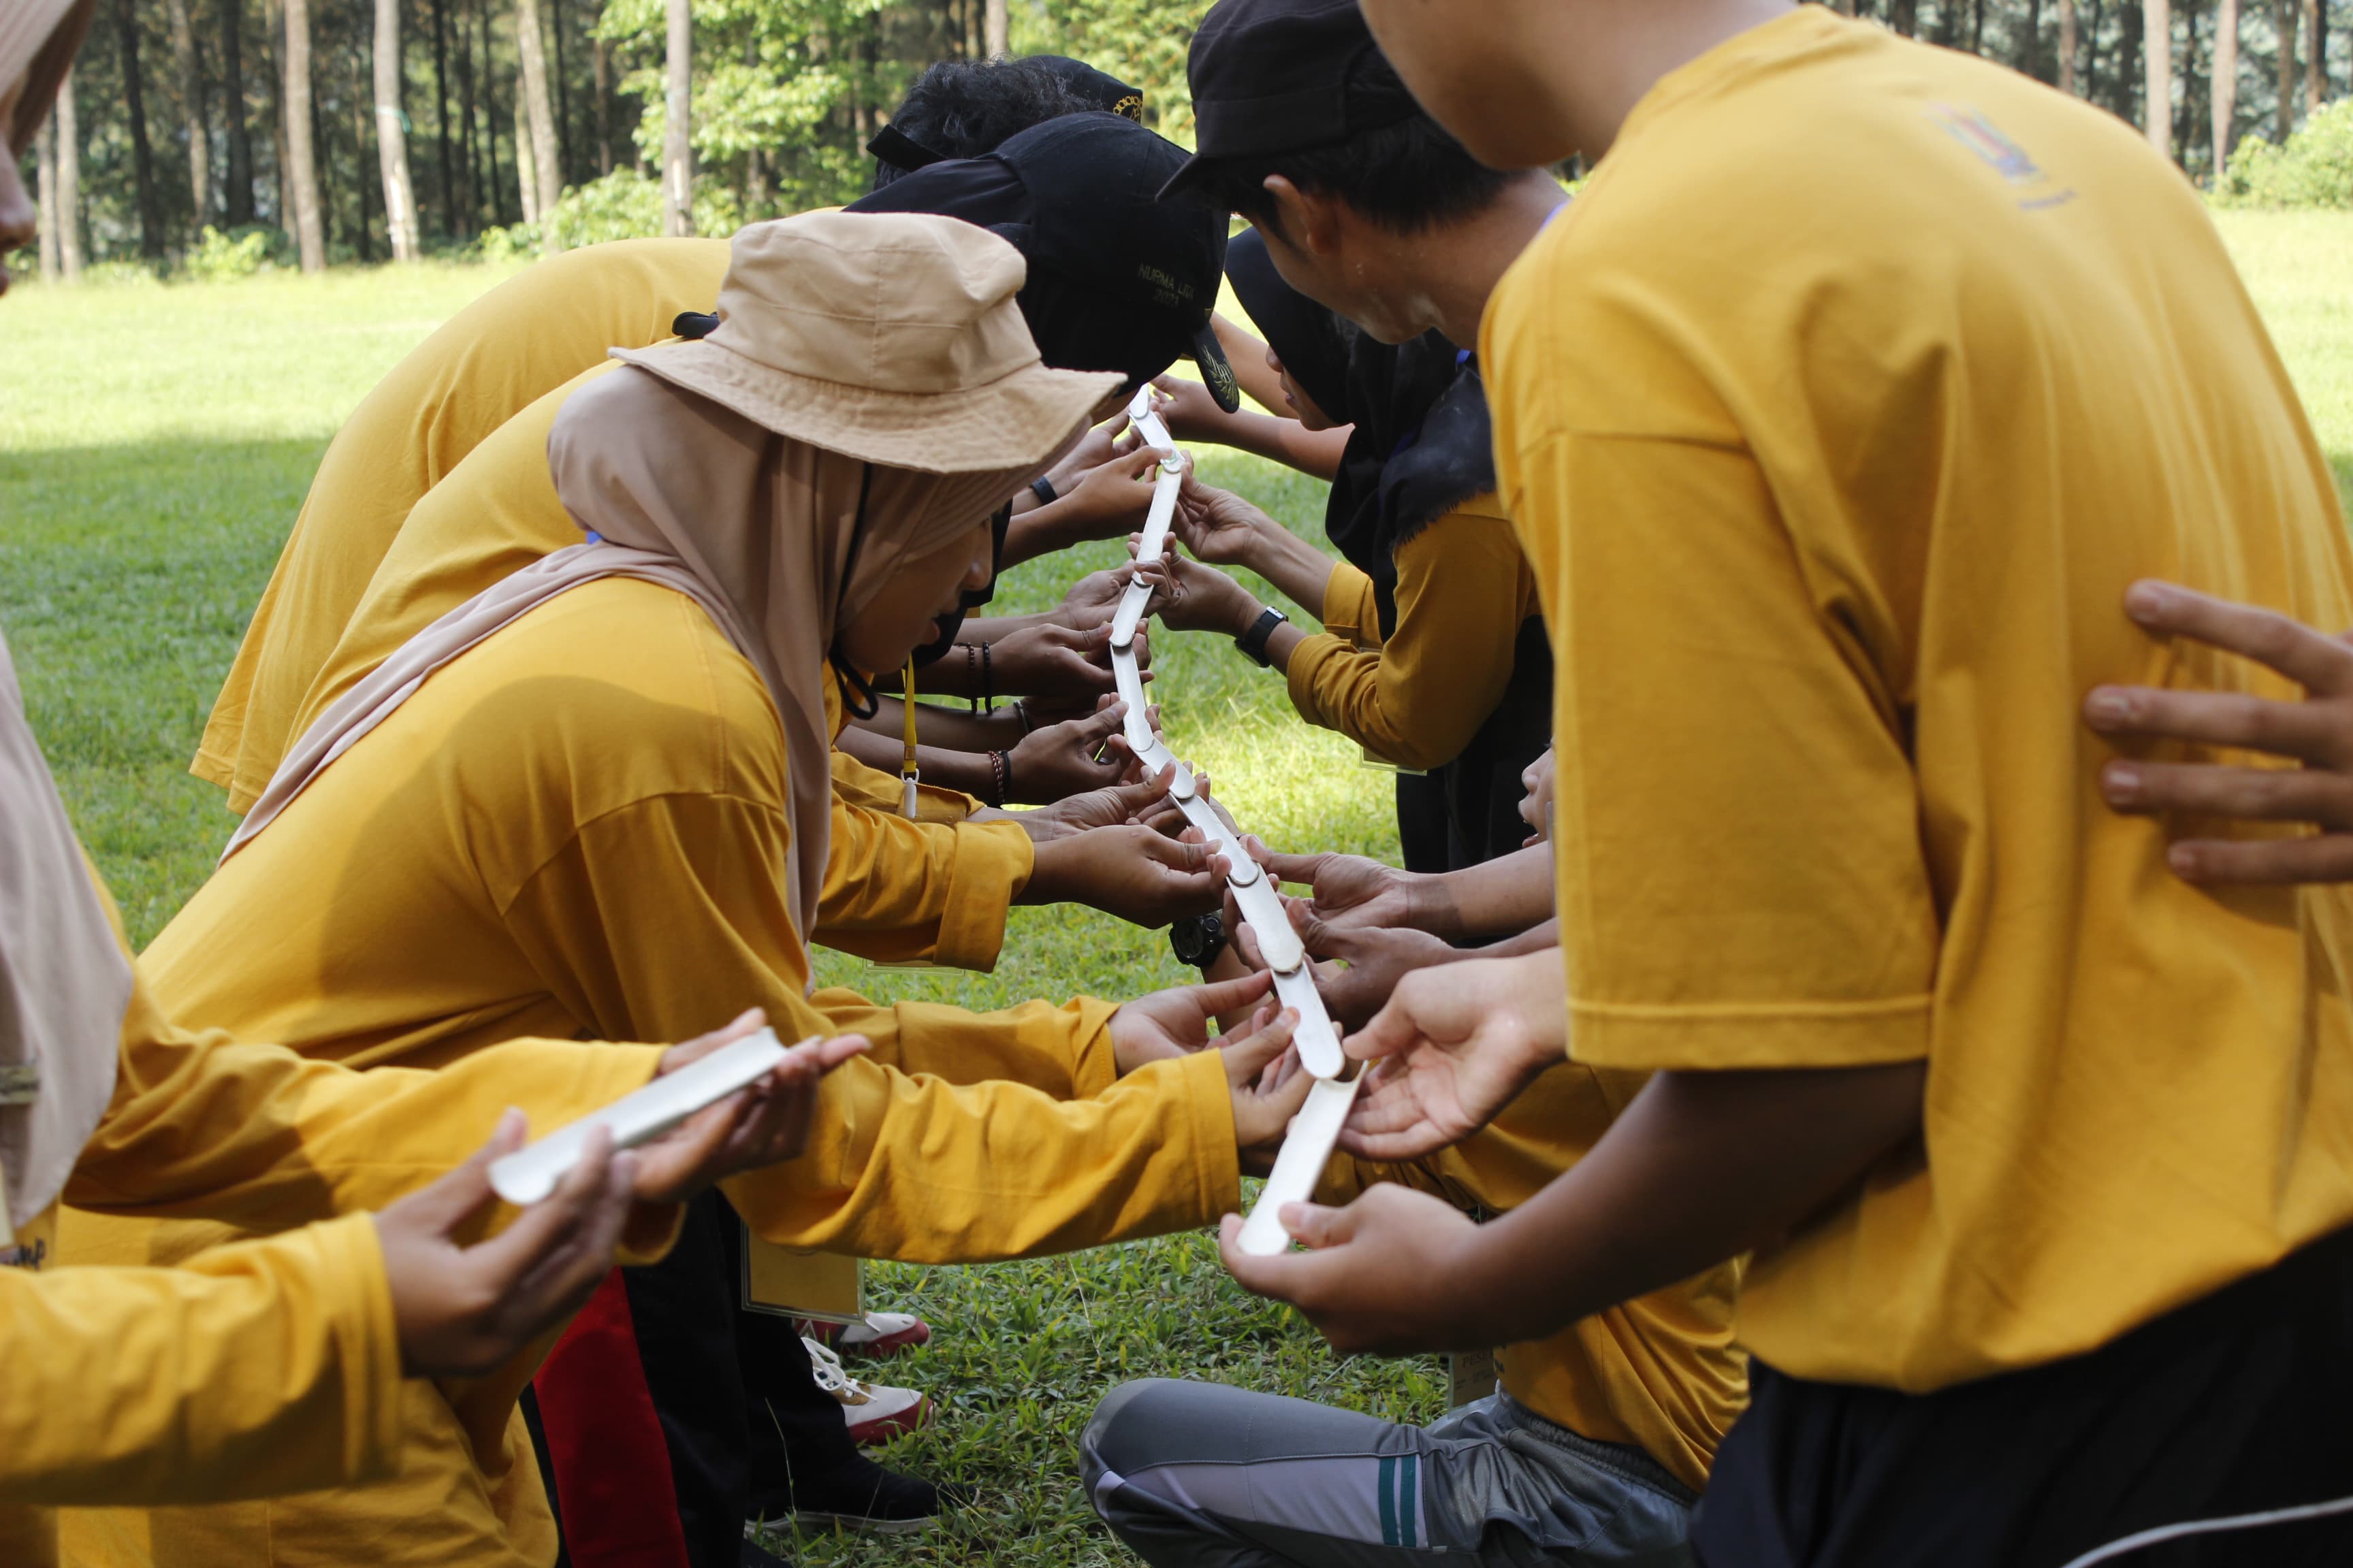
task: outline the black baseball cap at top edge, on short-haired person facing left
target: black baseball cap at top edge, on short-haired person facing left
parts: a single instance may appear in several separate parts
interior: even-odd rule
[[[1351,82],[1379,56],[1355,0],[1219,0],[1193,33],[1193,141],[1200,148],[1162,200],[1193,183],[1202,160],[1304,153],[1421,113],[1393,71]],[[1386,61],[1384,61],[1386,63]]]

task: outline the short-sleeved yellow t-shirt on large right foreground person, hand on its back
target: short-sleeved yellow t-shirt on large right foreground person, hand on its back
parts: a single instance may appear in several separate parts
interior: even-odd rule
[[[1819,7],[1664,78],[1482,331],[1555,651],[1572,1053],[1927,1058],[1922,1138],[1767,1248],[1741,1340],[1934,1389],[2353,1220],[2348,896],[2111,813],[2139,576],[2353,621],[2327,468],[2122,122]]]

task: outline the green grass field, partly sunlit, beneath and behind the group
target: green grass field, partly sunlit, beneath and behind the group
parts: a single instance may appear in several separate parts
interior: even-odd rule
[[[2221,223],[2353,498],[2353,216]],[[0,301],[0,628],[136,940],[228,835],[219,795],[186,762],[320,449],[400,353],[499,277],[426,266],[24,287]],[[1207,454],[1202,470],[1315,534],[1318,484],[1231,454]],[[1000,602],[1042,607],[1115,555],[1024,567]],[[1176,750],[1217,773],[1245,825],[1287,846],[1393,851],[1386,776],[1301,726],[1278,679],[1214,637],[1165,637],[1155,654]],[[1158,933],[1066,910],[1014,910],[993,976],[821,966],[824,983],[969,1006],[1184,978]],[[1198,1237],[1026,1265],[885,1265],[871,1284],[878,1305],[944,1331],[889,1368],[946,1406],[892,1462],[976,1483],[986,1502],[922,1542],[802,1537],[793,1552],[809,1563],[1129,1561],[1094,1523],[1073,1458],[1087,1410],[1120,1378],[1224,1378],[1398,1420],[1442,1403],[1433,1361],[1337,1363],[1301,1324],[1235,1291]]]

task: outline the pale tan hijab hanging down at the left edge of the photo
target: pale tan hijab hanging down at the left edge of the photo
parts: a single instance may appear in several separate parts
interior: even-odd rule
[[[0,642],[0,1175],[9,1229],[56,1201],[115,1093],[132,964]]]

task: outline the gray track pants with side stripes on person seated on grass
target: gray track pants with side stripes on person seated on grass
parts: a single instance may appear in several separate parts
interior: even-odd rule
[[[1153,1568],[1685,1568],[1694,1495],[1647,1453],[1494,1394],[1433,1427],[1219,1382],[1125,1382],[1085,1436],[1094,1512]]]

